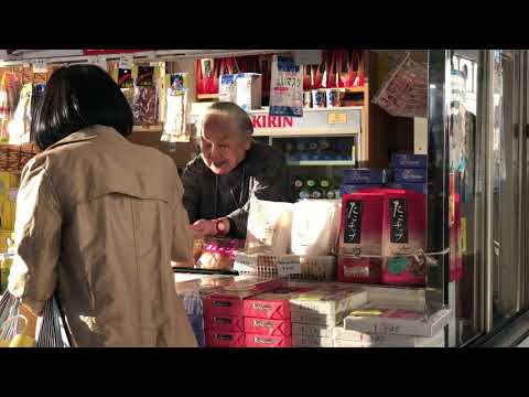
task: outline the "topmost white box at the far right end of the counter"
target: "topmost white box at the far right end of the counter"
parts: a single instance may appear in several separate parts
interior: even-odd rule
[[[344,321],[344,329],[385,335],[433,336],[449,324],[452,315],[450,309],[440,310],[430,318],[422,313],[402,310],[378,310],[373,305],[367,305],[364,310],[371,311],[371,314],[354,315],[355,312],[350,313]],[[358,313],[361,312],[358,311]]]

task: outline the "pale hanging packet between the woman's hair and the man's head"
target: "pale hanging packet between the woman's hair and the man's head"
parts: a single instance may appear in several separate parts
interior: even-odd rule
[[[186,73],[165,76],[165,125],[161,140],[163,142],[188,142],[188,93],[190,76]]]

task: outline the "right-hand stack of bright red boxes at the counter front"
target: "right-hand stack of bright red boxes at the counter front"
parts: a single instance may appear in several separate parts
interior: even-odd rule
[[[290,300],[310,291],[304,287],[284,287],[248,298],[244,302],[247,347],[291,347]]]

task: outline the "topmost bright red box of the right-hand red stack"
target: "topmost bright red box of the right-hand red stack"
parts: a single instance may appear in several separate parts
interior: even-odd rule
[[[285,287],[251,297],[244,302],[244,315],[256,319],[290,319],[290,300],[307,291],[310,288]]]

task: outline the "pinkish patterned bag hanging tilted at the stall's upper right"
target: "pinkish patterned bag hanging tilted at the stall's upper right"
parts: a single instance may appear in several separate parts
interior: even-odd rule
[[[408,53],[373,100],[395,117],[428,116],[428,67]]]

